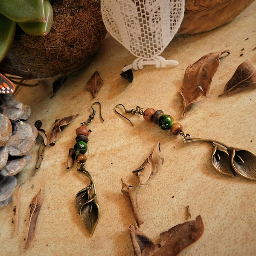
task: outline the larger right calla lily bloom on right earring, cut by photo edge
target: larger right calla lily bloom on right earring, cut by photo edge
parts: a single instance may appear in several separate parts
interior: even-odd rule
[[[229,148],[231,164],[235,172],[245,178],[256,180],[256,154],[247,149]]]

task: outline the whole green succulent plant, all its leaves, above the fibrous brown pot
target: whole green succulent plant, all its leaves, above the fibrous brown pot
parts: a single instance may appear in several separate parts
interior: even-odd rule
[[[47,35],[51,29],[53,11],[49,0],[0,1],[0,62],[12,46],[16,24],[28,35]]]

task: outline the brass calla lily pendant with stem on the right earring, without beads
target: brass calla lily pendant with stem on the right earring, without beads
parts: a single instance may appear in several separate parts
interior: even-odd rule
[[[217,140],[185,137],[183,143],[204,141],[212,144],[212,166],[228,176],[241,175],[256,180],[256,154],[247,149],[233,148]]]

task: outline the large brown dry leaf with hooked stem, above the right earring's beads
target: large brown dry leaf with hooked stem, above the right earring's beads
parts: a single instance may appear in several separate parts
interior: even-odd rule
[[[179,90],[183,98],[182,117],[185,117],[194,102],[207,97],[212,77],[220,64],[220,56],[224,53],[229,54],[228,51],[209,53],[187,67]]]

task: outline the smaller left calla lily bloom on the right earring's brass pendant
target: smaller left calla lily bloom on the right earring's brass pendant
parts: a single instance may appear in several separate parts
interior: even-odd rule
[[[212,165],[220,173],[234,177],[232,166],[230,163],[230,155],[226,150],[222,150],[217,146],[212,148]]]

